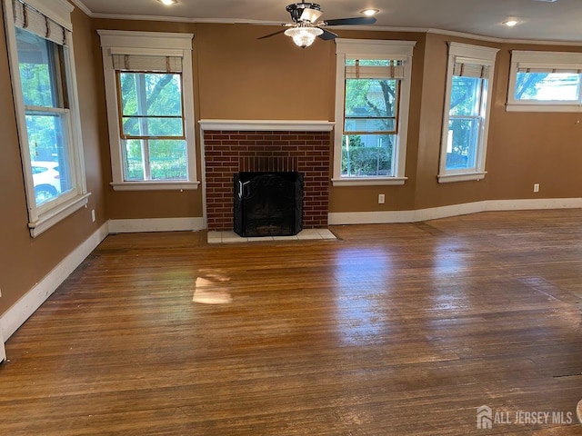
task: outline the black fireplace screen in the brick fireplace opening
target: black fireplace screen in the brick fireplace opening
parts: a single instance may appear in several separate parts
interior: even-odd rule
[[[235,173],[235,232],[290,236],[302,229],[303,174]]]

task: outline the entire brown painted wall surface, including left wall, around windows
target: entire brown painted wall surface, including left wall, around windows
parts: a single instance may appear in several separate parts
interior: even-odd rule
[[[195,35],[196,122],[199,119],[333,120],[335,45],[316,41],[298,49],[284,35],[257,40],[278,27],[90,19],[73,13],[75,62],[85,149],[87,209],[32,239],[26,228],[25,190],[11,98],[0,101],[0,313],[83,243],[107,219],[202,216],[202,189],[114,192],[107,138],[101,49],[96,29],[183,32]],[[0,24],[2,26],[2,24]],[[481,200],[582,197],[579,114],[507,113],[510,50],[582,51],[582,47],[507,45],[433,33],[337,32],[341,37],[414,40],[412,94],[403,186],[331,187],[332,213],[413,210]],[[12,93],[4,28],[0,28],[0,94]],[[487,177],[480,182],[437,183],[445,98],[447,42],[500,49],[487,149]],[[196,128],[201,179],[199,129]],[[532,184],[540,183],[540,192]],[[377,204],[377,194],[386,203]],[[91,223],[95,209],[97,222]]]

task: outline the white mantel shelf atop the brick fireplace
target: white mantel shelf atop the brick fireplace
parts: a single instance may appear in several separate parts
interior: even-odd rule
[[[331,132],[336,123],[326,120],[200,120],[202,130]]]

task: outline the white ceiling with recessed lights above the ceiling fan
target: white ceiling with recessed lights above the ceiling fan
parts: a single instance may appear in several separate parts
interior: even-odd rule
[[[72,0],[93,17],[164,19],[210,23],[288,23],[288,0]],[[439,29],[504,40],[582,43],[582,0],[320,0],[323,19],[380,10],[372,29]],[[508,18],[519,24],[501,25]],[[341,27],[336,27],[341,28]],[[330,28],[330,30],[332,30]]]

